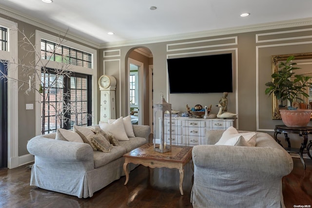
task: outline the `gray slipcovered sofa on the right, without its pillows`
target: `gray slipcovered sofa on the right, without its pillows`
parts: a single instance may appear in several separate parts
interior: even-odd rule
[[[293,168],[289,153],[263,132],[257,132],[255,147],[214,145],[223,132],[206,132],[209,145],[193,148],[193,207],[285,207],[282,177]]]

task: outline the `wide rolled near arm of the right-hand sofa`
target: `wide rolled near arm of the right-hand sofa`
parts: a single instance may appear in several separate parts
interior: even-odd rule
[[[214,174],[254,178],[280,177],[293,168],[292,157],[284,150],[271,147],[198,145],[193,148],[195,167]]]

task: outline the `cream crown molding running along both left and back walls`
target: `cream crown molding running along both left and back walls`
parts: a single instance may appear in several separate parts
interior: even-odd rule
[[[98,43],[91,39],[84,38],[77,34],[71,33],[70,31],[67,31],[63,28],[59,28],[59,27],[56,27],[55,25],[48,24],[39,19],[34,19],[32,17],[26,16],[22,13],[19,13],[3,5],[1,5],[0,7],[0,13],[8,17],[18,19],[20,21],[32,24],[34,26],[48,30],[53,33],[56,33],[56,34],[64,35],[67,33],[66,34],[67,38],[77,40],[81,43],[84,43],[91,47],[95,47],[97,49],[132,46],[132,45],[145,45],[145,44],[157,43],[157,42],[169,42],[169,41],[192,39],[192,38],[206,38],[206,37],[237,34],[237,33],[247,33],[247,32],[255,32],[255,31],[262,31],[262,30],[273,30],[273,29],[281,29],[281,28],[288,28],[288,27],[312,25],[312,18],[294,19],[294,20],[289,20],[289,21],[279,21],[279,22],[271,22],[271,23],[265,23],[265,24],[224,28],[224,29],[218,29],[218,30],[200,31],[200,32],[177,34],[177,35],[171,35],[171,36],[141,38],[141,39],[133,39],[133,40],[108,42],[108,43]]]

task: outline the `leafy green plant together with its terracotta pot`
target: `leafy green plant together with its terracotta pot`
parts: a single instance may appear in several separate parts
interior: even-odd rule
[[[312,77],[295,74],[294,70],[300,68],[294,67],[296,65],[292,62],[294,58],[294,56],[290,56],[285,62],[278,65],[279,70],[272,74],[273,81],[265,84],[268,87],[265,94],[275,95],[279,100],[279,107],[284,107],[284,100],[290,102],[288,109],[280,109],[281,118],[286,126],[304,127],[310,121],[312,110],[294,108],[292,103],[296,100],[304,102],[303,98],[309,97],[306,89],[312,87],[310,82]],[[299,123],[290,123],[292,121]]]

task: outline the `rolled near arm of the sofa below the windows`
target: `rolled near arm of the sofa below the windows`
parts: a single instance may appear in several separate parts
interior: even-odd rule
[[[49,161],[92,161],[92,147],[85,143],[61,141],[36,136],[27,143],[29,153]]]

